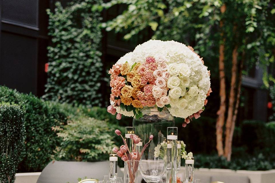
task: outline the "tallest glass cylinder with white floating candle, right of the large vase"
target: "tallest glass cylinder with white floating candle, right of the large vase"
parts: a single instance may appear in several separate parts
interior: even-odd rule
[[[177,182],[177,140],[178,140],[178,127],[168,127],[167,128],[167,142],[171,141],[171,150],[167,148],[167,162],[171,163],[171,178],[169,178],[169,183]],[[167,143],[168,147],[168,143]],[[169,152],[169,154],[168,154]],[[169,156],[169,160],[168,160]],[[167,180],[166,180],[167,182]]]

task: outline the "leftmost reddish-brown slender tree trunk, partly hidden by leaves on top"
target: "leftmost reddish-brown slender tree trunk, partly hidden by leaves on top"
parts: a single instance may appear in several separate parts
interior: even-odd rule
[[[221,6],[221,13],[223,14],[226,10],[225,4]],[[225,38],[223,38],[223,20],[220,21],[221,38],[223,42],[220,43],[219,47],[219,79],[220,79],[220,108],[217,112],[218,118],[216,122],[216,136],[217,136],[217,151],[219,156],[223,156],[223,125],[225,120],[225,110],[226,110],[226,93],[225,93],[225,72],[224,72],[224,43]]]

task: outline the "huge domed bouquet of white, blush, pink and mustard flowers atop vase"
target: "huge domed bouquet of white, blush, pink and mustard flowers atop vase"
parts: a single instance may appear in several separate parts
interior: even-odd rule
[[[184,118],[183,126],[200,117],[210,88],[210,71],[190,46],[176,41],[150,40],[121,57],[110,69],[108,112],[141,118],[141,109],[167,107]]]

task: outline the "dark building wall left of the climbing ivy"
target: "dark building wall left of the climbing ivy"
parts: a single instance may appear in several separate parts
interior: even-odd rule
[[[48,0],[0,0],[0,85],[41,96]]]

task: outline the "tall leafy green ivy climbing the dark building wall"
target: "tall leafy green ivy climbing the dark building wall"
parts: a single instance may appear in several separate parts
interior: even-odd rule
[[[100,105],[102,80],[100,13],[94,10],[100,0],[74,1],[66,8],[56,3],[49,15],[47,100]],[[93,10],[92,10],[93,9]]]

